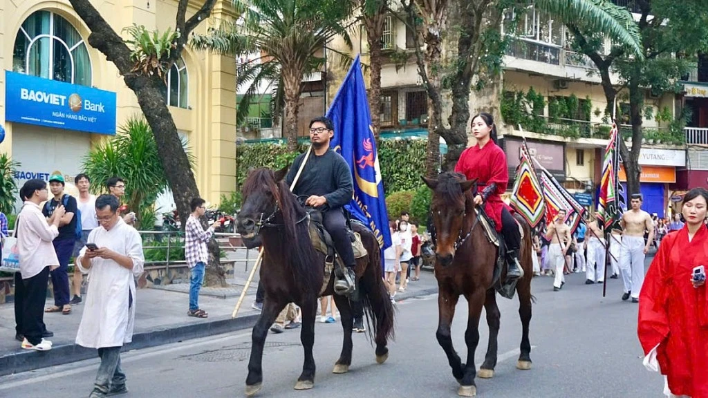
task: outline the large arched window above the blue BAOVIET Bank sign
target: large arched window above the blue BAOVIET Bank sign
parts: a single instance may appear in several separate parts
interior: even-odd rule
[[[91,86],[91,59],[84,39],[69,21],[50,11],[36,11],[22,23],[12,70]]]

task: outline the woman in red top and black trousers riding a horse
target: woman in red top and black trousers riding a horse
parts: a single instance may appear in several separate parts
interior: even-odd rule
[[[506,154],[497,142],[496,126],[492,115],[479,113],[474,116],[472,135],[477,142],[459,156],[455,172],[464,174],[468,181],[477,178],[474,204],[477,206],[484,204],[484,211],[493,220],[496,231],[504,235],[507,278],[521,278],[524,275],[519,266],[521,233],[508,207],[501,200],[501,194],[506,191],[509,183],[509,171]]]

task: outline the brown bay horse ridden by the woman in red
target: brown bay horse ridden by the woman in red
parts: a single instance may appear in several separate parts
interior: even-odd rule
[[[423,178],[428,188],[433,190],[430,203],[433,224],[436,229],[435,278],[438,280],[438,343],[447,355],[452,367],[452,375],[459,382],[457,394],[472,397],[476,394],[474,377],[491,378],[497,361],[497,337],[501,313],[496,304],[496,290],[493,288],[493,273],[498,249],[486,237],[479,225],[474,205],[476,179],[465,181],[462,174],[442,173],[438,179]],[[521,370],[531,368],[531,344],[529,324],[531,322],[531,279],[533,277],[532,240],[530,225],[515,215],[523,227],[524,237],[520,247],[520,263],[523,278],[517,281],[515,291],[519,297],[519,316],[522,324],[520,356],[516,367]],[[503,267],[502,282],[506,278]],[[467,330],[464,342],[467,344],[467,364],[462,363],[452,346],[450,326],[455,317],[455,307],[459,296],[467,300]],[[479,319],[482,306],[486,309],[489,325],[489,346],[479,373],[474,365],[474,352],[479,343]]]

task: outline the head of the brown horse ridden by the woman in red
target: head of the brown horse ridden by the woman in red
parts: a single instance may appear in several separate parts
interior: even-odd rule
[[[455,258],[457,242],[462,236],[467,215],[466,193],[470,189],[476,190],[477,180],[467,181],[462,174],[447,172],[440,174],[437,179],[423,177],[423,181],[433,191],[430,211],[433,213],[437,237],[435,259],[440,265],[449,266]]]

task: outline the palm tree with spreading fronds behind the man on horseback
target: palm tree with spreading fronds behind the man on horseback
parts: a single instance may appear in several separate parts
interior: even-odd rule
[[[248,114],[252,98],[261,86],[273,91],[273,116],[285,107],[283,135],[287,147],[297,149],[297,113],[302,79],[321,71],[323,50],[336,35],[351,41],[342,21],[351,4],[338,0],[233,0],[241,15],[235,23],[224,22],[207,35],[195,35],[192,45],[225,55],[256,55],[237,67],[237,84],[248,85],[238,104],[237,121]],[[336,52],[336,51],[335,51]]]

